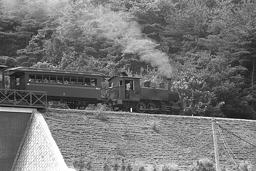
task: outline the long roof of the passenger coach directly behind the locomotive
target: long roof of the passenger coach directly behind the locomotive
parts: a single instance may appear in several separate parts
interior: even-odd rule
[[[8,70],[5,70],[5,73],[9,72],[7,75],[11,75],[17,71],[23,71],[23,72],[35,72],[35,73],[56,73],[56,74],[68,74],[68,75],[87,75],[87,76],[98,76],[107,78],[109,76],[101,73],[95,73],[95,72],[84,72],[84,71],[68,71],[68,70],[55,70],[55,69],[41,69],[41,68],[30,68],[30,67],[16,67],[11,68]]]

